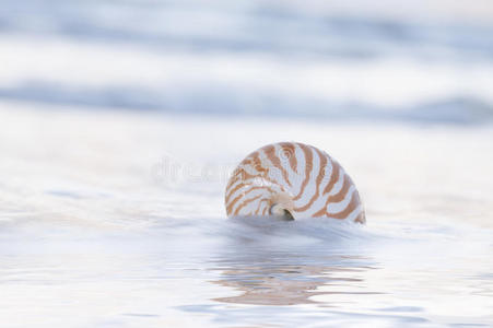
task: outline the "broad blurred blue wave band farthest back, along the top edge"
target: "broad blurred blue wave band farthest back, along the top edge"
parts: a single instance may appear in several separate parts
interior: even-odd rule
[[[3,1],[2,34],[60,36],[186,51],[267,52],[373,59],[379,56],[491,60],[491,26],[307,13],[260,1]]]

